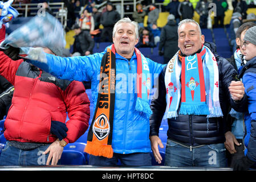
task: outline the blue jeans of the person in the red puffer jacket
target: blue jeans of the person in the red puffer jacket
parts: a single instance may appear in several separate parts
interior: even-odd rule
[[[7,141],[0,155],[0,166],[45,166],[49,153],[42,153],[49,146],[46,144],[32,150],[21,150]]]

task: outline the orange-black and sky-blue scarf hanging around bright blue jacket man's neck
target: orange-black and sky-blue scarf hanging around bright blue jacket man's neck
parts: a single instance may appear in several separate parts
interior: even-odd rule
[[[94,117],[88,131],[85,152],[95,156],[112,158],[113,112],[115,107],[116,59],[115,47],[107,48],[100,65],[100,82]],[[151,77],[148,62],[135,48],[137,57],[137,100],[135,110],[145,113],[147,118],[152,114],[149,107]]]

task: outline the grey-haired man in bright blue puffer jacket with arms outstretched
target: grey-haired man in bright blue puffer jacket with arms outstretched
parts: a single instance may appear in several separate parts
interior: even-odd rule
[[[86,147],[90,165],[114,166],[120,159],[124,166],[151,166],[149,94],[164,65],[145,58],[135,48],[138,41],[137,23],[124,18],[115,24],[113,44],[104,52],[66,58],[39,48],[29,53],[38,60],[32,64],[58,78],[92,82],[95,113]],[[12,52],[6,54],[16,59]]]

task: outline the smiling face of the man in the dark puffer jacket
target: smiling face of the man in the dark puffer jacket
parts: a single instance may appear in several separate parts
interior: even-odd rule
[[[178,48],[184,55],[189,56],[201,49],[205,43],[205,36],[201,35],[196,23],[181,24],[178,29]]]

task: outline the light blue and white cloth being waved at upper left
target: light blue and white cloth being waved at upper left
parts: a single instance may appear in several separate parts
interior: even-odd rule
[[[45,16],[34,16],[22,27],[11,32],[0,44],[0,48],[19,47],[21,48],[19,56],[38,60],[38,52],[40,52],[39,56],[45,56],[45,54],[42,48],[33,47],[47,47],[54,50],[64,48],[65,45],[66,40],[64,39],[62,24],[54,16],[46,13]]]

